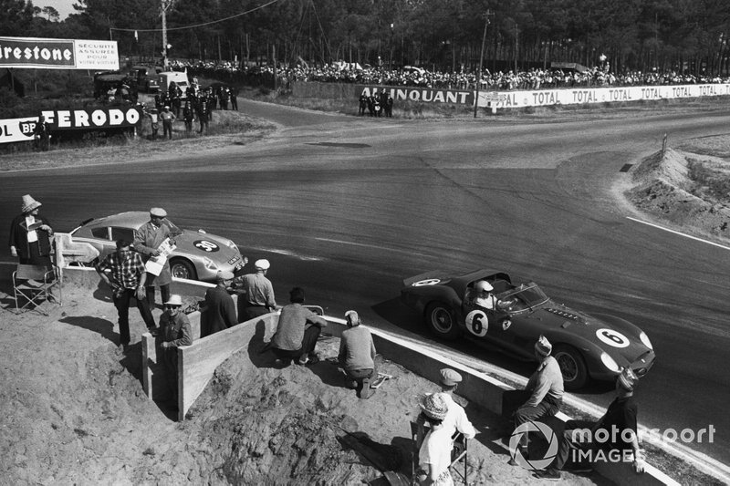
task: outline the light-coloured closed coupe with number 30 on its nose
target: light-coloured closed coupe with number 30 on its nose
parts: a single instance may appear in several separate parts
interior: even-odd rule
[[[120,212],[99,219],[82,222],[71,231],[74,241],[91,243],[99,250],[99,260],[116,250],[116,242],[134,241],[134,230],[150,221],[149,212]],[[213,281],[219,270],[235,272],[248,261],[235,243],[223,236],[183,230],[165,219],[172,227],[177,248],[170,255],[172,276],[190,280]]]

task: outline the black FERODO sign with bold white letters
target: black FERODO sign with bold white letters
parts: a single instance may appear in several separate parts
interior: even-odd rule
[[[130,128],[141,120],[136,108],[126,109],[55,109],[41,111],[51,130]]]

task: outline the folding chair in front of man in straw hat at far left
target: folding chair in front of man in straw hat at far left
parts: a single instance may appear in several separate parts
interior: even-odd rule
[[[51,292],[58,287],[58,296]],[[18,264],[13,272],[13,293],[16,297],[16,314],[21,310],[36,310],[42,315],[48,315],[40,305],[47,300],[55,300],[63,305],[63,289],[60,271],[57,266]],[[20,299],[26,303],[20,305]]]

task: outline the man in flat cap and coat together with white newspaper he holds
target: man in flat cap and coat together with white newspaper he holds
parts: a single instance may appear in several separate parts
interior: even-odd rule
[[[175,249],[172,238],[178,233],[172,231],[166,217],[167,212],[162,208],[151,208],[150,221],[139,230],[135,230],[132,244],[137,252],[145,255],[143,258],[147,270],[146,295],[151,309],[154,308],[155,287],[160,287],[162,302],[170,300],[172,273],[168,257]]]

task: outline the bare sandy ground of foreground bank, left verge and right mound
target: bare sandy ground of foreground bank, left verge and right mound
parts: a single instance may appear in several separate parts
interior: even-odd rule
[[[176,150],[185,150],[185,143],[213,148],[241,139],[221,137],[217,142],[183,140]],[[698,140],[686,150],[726,155],[729,146],[730,140],[716,138]],[[91,160],[110,153],[129,160],[150,155],[149,146],[142,150],[89,151],[95,152]],[[165,156],[169,150],[165,148]],[[17,165],[12,168],[89,160],[79,157],[78,150],[63,151],[46,160],[38,154],[13,157]],[[689,178],[690,159],[708,160],[704,165],[718,177],[728,170],[722,159],[668,150],[664,157],[634,168],[636,187],[626,193],[627,201],[658,222],[690,225],[690,231],[723,238],[726,199]],[[5,170],[11,168],[8,160],[2,162]],[[9,289],[0,290],[2,304],[11,306]],[[409,421],[416,397],[432,391],[433,383],[386,361],[382,371],[393,379],[369,400],[359,400],[342,388],[333,365],[277,369],[271,357],[259,354],[253,345],[219,368],[190,418],[177,423],[142,392],[144,326],[136,310],[130,310],[132,346],[122,353],[116,346],[119,335],[110,295],[99,289],[64,291],[62,307],[45,304],[48,317],[0,310],[4,483],[382,483],[381,471],[363,455],[368,450],[376,456],[380,452],[391,469],[410,473]],[[320,346],[327,357],[336,354],[338,344],[329,338]],[[470,483],[540,483],[529,471],[506,464],[506,447],[494,432],[499,419],[462,401],[480,431],[470,443]],[[604,481],[597,476],[564,477],[568,484]]]

